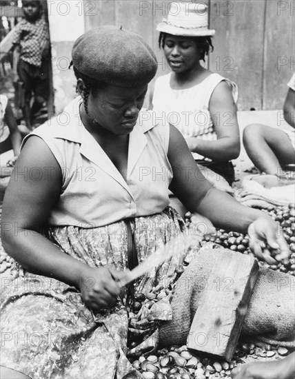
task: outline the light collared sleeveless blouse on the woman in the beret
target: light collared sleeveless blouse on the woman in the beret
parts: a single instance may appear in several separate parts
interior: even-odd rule
[[[127,183],[79,116],[81,97],[26,137],[39,136],[63,174],[59,201],[48,225],[101,227],[162,212],[169,205],[172,168],[167,159],[169,128],[142,110],[130,133]],[[50,170],[50,167],[48,167]],[[50,174],[50,173],[49,173]]]

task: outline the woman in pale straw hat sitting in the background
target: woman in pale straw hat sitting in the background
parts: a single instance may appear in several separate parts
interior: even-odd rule
[[[213,50],[215,30],[207,24],[204,4],[172,3],[167,19],[157,25],[159,47],[172,72],[156,80],[152,107],[181,131],[201,170],[210,169],[205,177],[221,189],[225,180],[232,185],[230,161],[240,152],[238,90],[235,83],[201,64]],[[223,187],[230,192],[226,182]]]

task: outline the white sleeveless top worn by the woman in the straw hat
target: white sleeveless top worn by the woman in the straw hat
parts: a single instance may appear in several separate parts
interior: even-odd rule
[[[153,110],[158,119],[165,119],[179,129],[185,138],[199,137],[207,141],[217,139],[210,116],[209,103],[216,85],[225,81],[232,91],[236,103],[238,88],[229,79],[219,74],[210,74],[201,83],[184,90],[174,90],[170,86],[171,73],[160,76],[154,85]],[[195,159],[203,156],[192,153]]]

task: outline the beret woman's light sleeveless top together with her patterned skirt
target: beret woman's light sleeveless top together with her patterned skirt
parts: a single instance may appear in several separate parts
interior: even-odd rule
[[[80,103],[77,99],[70,104],[64,119],[60,115],[34,131],[63,168],[61,198],[43,234],[61,253],[91,267],[110,265],[123,270],[130,259],[130,238],[141,263],[185,229],[180,216],[167,206],[171,176],[155,181],[152,172],[146,171],[149,167],[158,173],[161,167],[170,171],[169,132],[146,123],[137,127],[136,141],[130,136],[130,145],[136,143],[138,154],[130,153],[128,165],[134,167],[128,169],[129,184],[121,183],[103,152],[89,156],[98,145],[92,145],[92,136],[79,124]],[[70,122],[61,126],[67,117]],[[140,175],[139,168],[144,167]],[[94,181],[81,178],[85,172]],[[108,183],[110,194],[99,194]],[[107,198],[108,207],[101,196]],[[194,249],[179,245],[170,260],[126,287],[118,303],[95,315],[76,288],[24,272],[16,264],[14,278],[6,280],[1,294],[1,365],[33,379],[123,378],[133,371],[128,357],[154,351],[161,321],[172,319],[170,297],[187,254],[192,258]]]

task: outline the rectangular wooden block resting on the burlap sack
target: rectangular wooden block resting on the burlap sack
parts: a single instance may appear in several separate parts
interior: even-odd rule
[[[258,274],[252,256],[216,252],[212,272],[187,337],[187,347],[230,361]]]

